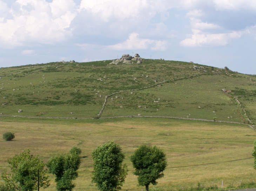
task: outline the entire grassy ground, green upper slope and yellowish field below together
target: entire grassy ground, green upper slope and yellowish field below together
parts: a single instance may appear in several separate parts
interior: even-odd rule
[[[27,148],[47,162],[75,145],[82,149],[83,156],[75,190],[96,190],[88,172],[93,170],[91,152],[109,140],[123,148],[129,170],[133,169],[129,156],[141,143],[163,149],[168,168],[251,157],[256,132],[243,124],[255,128],[255,75],[199,64],[195,65],[201,68],[194,69],[193,63],[179,61],[145,59],[142,64],[117,65],[111,62],[0,68],[0,134],[15,133],[13,141],[0,139],[0,173],[9,170],[8,158]],[[23,111],[18,113],[20,109]],[[203,120],[217,117],[219,121],[241,124],[112,118],[138,114]],[[170,168],[164,171],[159,184],[155,188],[150,185],[150,189],[186,191],[184,188],[192,186],[187,191],[193,191],[197,182],[205,186],[214,182],[219,190],[255,187],[253,164],[253,159],[247,159]],[[54,177],[49,178],[51,186],[41,190],[55,190]],[[123,190],[141,190],[136,181],[129,171]]]

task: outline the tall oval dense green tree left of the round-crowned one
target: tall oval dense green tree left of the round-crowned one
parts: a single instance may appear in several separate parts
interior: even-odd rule
[[[124,154],[120,145],[107,142],[98,146],[92,152],[93,168],[92,182],[100,191],[121,190],[127,176],[127,166],[122,164]]]

